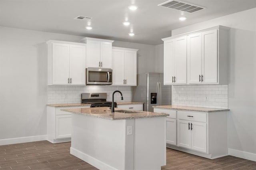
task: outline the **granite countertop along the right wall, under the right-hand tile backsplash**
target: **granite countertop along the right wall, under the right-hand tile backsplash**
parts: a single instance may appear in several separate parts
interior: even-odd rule
[[[170,109],[178,111],[198,111],[198,112],[221,112],[229,111],[229,109],[218,109],[218,108],[208,108],[208,107],[192,107],[192,106],[177,106],[177,105],[165,105],[165,106],[153,106],[159,109]]]

